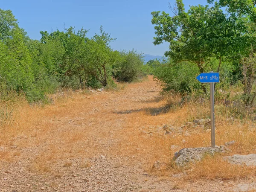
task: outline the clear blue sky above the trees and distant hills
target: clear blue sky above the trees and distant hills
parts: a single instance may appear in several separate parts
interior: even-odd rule
[[[151,12],[166,11],[174,0],[1,0],[0,9],[10,9],[32,39],[40,39],[40,31],[62,30],[75,26],[90,29],[91,37],[104,30],[117,38],[115,50],[137,49],[151,55],[163,55],[168,44],[154,46]],[[207,4],[207,0],[183,0],[189,5]]]

